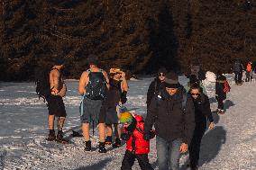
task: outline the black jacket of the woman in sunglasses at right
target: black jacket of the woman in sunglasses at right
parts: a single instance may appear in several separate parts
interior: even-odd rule
[[[192,98],[192,97],[191,97]],[[195,121],[197,123],[205,123],[206,119],[210,122],[213,122],[213,115],[210,108],[209,98],[206,94],[201,94],[197,99],[193,99],[195,106]]]

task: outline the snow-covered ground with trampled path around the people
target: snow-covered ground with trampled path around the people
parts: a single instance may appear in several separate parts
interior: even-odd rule
[[[181,76],[180,82],[187,83]],[[202,170],[255,170],[256,169],[256,83],[233,85],[225,101],[226,113],[218,116],[214,112],[215,130],[206,131],[200,158]],[[128,108],[144,115],[146,92],[151,78],[129,81]],[[68,117],[65,130],[78,126],[78,81],[69,80],[65,97]],[[212,111],[216,109],[215,85],[207,84]],[[139,109],[137,109],[139,108]],[[107,147],[106,154],[85,152],[82,138],[71,139],[69,145],[48,142],[45,137],[48,111],[45,103],[34,94],[33,83],[0,83],[0,169],[72,169],[72,170],[117,170],[123,159],[124,146]],[[67,133],[69,137],[69,133]],[[181,169],[187,165],[187,155],[181,157]],[[150,161],[157,169],[155,139],[151,140]],[[140,169],[135,163],[133,169]]]

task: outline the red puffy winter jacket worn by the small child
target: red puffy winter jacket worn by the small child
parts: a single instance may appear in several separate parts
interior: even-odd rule
[[[148,154],[150,152],[150,141],[144,140],[144,121],[142,116],[135,114],[135,120],[137,121],[136,129],[133,131],[130,139],[126,141],[126,149],[135,154]],[[139,130],[142,130],[141,132]],[[123,129],[123,133],[127,131]],[[133,139],[135,140],[135,148],[133,149]]]

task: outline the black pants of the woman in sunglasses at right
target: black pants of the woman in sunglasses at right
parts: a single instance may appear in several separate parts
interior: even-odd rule
[[[198,166],[201,140],[206,132],[206,121],[196,122],[193,138],[189,145],[190,166]]]

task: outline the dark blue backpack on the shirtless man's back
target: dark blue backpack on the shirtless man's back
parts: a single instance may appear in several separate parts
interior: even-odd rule
[[[103,75],[103,70],[100,72],[91,72],[90,69],[87,70],[89,82],[86,86],[85,96],[91,100],[103,100],[106,96],[106,81]]]

